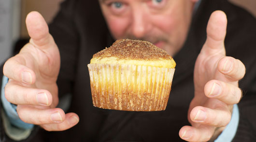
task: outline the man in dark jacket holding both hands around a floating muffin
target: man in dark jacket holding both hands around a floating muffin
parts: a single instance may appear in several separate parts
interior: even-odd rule
[[[256,45],[250,40],[256,32],[251,24],[249,30],[238,29],[243,23],[256,23],[250,14],[224,0],[203,0],[199,8],[195,8],[197,0],[99,2],[110,32],[94,0],[64,2],[49,27],[52,36],[39,13],[28,14],[26,23],[31,39],[4,64],[3,74],[9,78],[4,94],[17,105],[17,114],[24,122],[47,131],[65,130],[40,130],[31,141],[176,142],[180,138],[189,142],[213,141],[223,130],[228,130],[232,111],[237,114],[233,106],[242,97],[238,81],[244,76],[244,64],[249,75],[241,85],[249,94],[244,98],[250,99],[244,99],[240,110],[256,108],[248,105],[256,100],[253,87],[256,58],[252,55],[255,49],[245,46]],[[231,23],[228,29],[225,13],[215,10],[226,12]],[[240,34],[248,36],[242,38]],[[85,66],[94,53],[110,46],[113,38],[147,40],[174,57],[177,67],[165,111],[127,112],[92,106]],[[250,51],[243,54],[241,46]],[[65,114],[57,104],[58,97],[66,94],[72,94],[72,99],[69,113]],[[255,116],[243,117],[240,115],[240,123]],[[255,129],[255,125],[251,126]],[[239,137],[239,130],[248,128],[239,127],[235,138],[228,135],[230,141],[254,140],[253,132]]]

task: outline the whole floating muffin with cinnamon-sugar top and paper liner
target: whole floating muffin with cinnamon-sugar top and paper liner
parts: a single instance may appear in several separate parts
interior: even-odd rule
[[[93,105],[126,111],[165,110],[176,63],[150,42],[117,40],[88,64]]]

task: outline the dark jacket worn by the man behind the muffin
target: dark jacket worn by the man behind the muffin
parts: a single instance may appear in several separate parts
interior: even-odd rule
[[[31,142],[181,142],[179,130],[189,125],[187,111],[194,95],[194,64],[206,40],[208,19],[215,10],[224,11],[228,17],[227,56],[240,59],[246,67],[239,82],[244,96],[239,103],[240,122],[233,142],[256,142],[256,19],[227,0],[201,1],[187,40],[174,57],[177,66],[167,108],[157,112],[107,110],[92,105],[87,64],[93,54],[114,40],[98,0],[63,2],[49,29],[61,55],[59,97],[72,95],[68,112],[77,113],[80,122],[70,130],[58,132],[37,128]]]

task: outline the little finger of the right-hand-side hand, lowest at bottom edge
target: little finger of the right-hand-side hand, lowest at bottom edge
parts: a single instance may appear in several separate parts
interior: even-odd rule
[[[207,142],[213,136],[214,129],[215,128],[212,126],[205,126],[202,128],[184,126],[179,131],[179,136],[188,142]]]

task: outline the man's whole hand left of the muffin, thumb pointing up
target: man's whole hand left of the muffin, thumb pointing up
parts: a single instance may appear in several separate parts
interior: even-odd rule
[[[53,37],[41,14],[30,12],[26,19],[31,37],[3,68],[9,78],[5,86],[6,99],[17,105],[17,113],[26,123],[45,130],[66,130],[79,121],[75,113],[65,114],[58,104],[57,76],[60,56]]]

